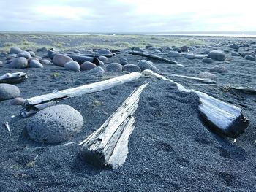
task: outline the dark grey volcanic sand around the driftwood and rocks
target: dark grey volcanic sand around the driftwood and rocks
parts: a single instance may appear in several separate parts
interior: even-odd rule
[[[211,42],[212,45],[196,47],[193,52],[201,53],[203,47],[210,46],[211,50],[214,47],[224,50],[232,42],[246,42],[251,46],[255,39],[212,38]],[[240,49],[239,52],[253,50],[252,46]],[[31,141],[24,128],[33,117],[20,118],[20,106],[10,105],[10,100],[0,101],[1,123],[10,122],[12,131],[12,137],[9,137],[7,129],[0,128],[0,191],[255,191],[255,95],[223,92],[220,88],[223,85],[256,87],[256,62],[231,57],[230,53],[226,55],[227,61],[214,61],[213,64],[176,58],[185,68],[159,61],[154,64],[166,77],[170,77],[170,73],[197,76],[214,65],[226,66],[227,73],[214,73],[217,75],[216,85],[198,87],[193,85],[198,83],[195,80],[170,78],[187,88],[195,88],[241,107],[250,124],[236,143],[212,133],[200,120],[195,94],[181,93],[175,85],[162,80],[141,78],[107,91],[60,101],[59,104],[69,104],[78,110],[85,120],[83,131],[69,141],[74,143],[65,146]],[[146,59],[123,51],[106,63],[119,61],[121,57],[128,58],[132,64],[138,59]],[[4,61],[5,58],[0,59]],[[119,75],[92,76],[53,65],[43,69],[0,68],[0,74],[19,71],[29,75],[26,81],[16,84],[26,99],[54,89],[72,88]],[[61,75],[52,78],[55,72]],[[80,161],[78,143],[99,128],[145,81],[150,84],[140,96],[135,130],[129,138],[129,154],[124,166],[116,170],[96,169]],[[17,117],[10,118],[11,115]],[[34,166],[30,166],[29,162],[37,155]]]

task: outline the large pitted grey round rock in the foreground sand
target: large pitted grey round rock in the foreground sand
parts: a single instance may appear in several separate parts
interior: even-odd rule
[[[73,137],[82,127],[80,112],[69,105],[60,104],[37,112],[27,123],[26,130],[36,142],[60,143]]]

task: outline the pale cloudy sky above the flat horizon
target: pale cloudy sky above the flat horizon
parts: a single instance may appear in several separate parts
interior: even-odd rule
[[[0,31],[256,31],[255,0],[0,0]]]

